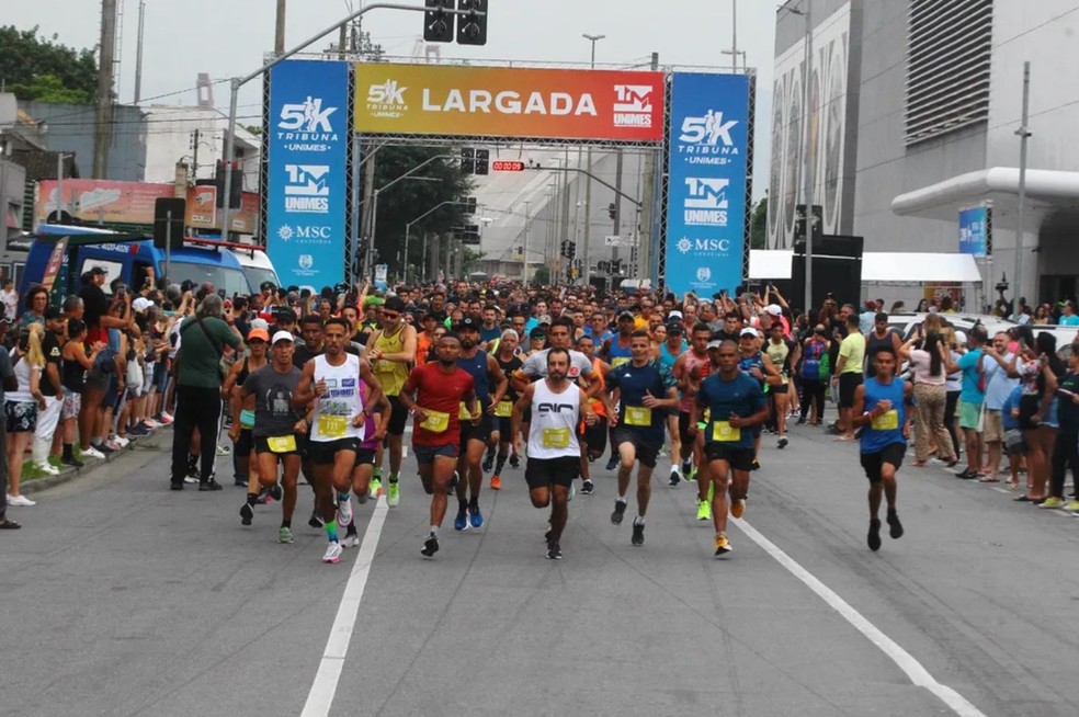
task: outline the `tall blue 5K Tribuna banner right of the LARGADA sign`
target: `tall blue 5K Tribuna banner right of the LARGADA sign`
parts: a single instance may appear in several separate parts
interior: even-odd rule
[[[675,73],[667,208],[667,287],[712,296],[742,280],[749,78]]]

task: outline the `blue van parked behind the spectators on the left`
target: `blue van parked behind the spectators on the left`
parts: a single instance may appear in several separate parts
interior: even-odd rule
[[[166,275],[166,252],[155,247],[150,237],[89,227],[43,225],[26,257],[20,296],[25,296],[30,285],[45,283],[49,260],[60,242],[64,242],[63,259],[52,282],[54,301],[78,293],[82,275],[94,266],[105,270],[106,292],[117,277],[138,291],[145,283],[148,266],[154,268],[156,277]],[[197,286],[213,282],[226,296],[259,291],[258,286],[250,285],[236,254],[220,242],[185,241],[182,249],[172,250],[169,264],[170,284],[191,281]]]

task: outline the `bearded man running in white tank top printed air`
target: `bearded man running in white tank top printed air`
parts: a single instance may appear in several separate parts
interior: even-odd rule
[[[600,420],[584,390],[569,380],[569,351],[552,349],[547,354],[547,377],[527,385],[513,407],[511,423],[514,448],[520,454],[521,423],[524,412],[532,408],[524,478],[532,504],[541,509],[550,505],[546,538],[547,557],[552,560],[561,559],[559,540],[569,517],[569,487],[580,469],[580,418],[583,416],[590,425]]]

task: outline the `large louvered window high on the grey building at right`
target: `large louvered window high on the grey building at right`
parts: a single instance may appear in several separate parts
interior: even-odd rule
[[[907,146],[989,118],[992,0],[909,0]]]

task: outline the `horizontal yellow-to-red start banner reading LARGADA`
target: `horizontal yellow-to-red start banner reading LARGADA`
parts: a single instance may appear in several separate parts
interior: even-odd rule
[[[365,62],[355,76],[361,133],[663,138],[662,72]]]

